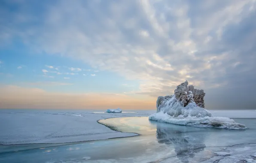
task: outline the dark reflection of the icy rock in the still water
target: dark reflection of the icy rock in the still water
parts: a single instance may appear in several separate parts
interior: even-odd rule
[[[192,134],[190,134],[192,133]],[[193,132],[182,132],[179,130],[171,130],[161,128],[157,125],[156,138],[158,143],[165,143],[167,145],[174,145],[174,150],[177,157],[183,163],[189,163],[189,158],[195,157],[195,153],[203,151],[205,144],[202,143],[203,139],[201,136],[194,135]],[[193,136],[194,135],[194,136]]]

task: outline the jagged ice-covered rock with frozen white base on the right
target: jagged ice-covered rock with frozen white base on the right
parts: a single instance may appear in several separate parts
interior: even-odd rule
[[[195,89],[188,84],[186,81],[178,85],[174,95],[158,97],[157,113],[150,115],[149,120],[194,127],[246,128],[244,124],[238,124],[230,118],[213,117],[204,109],[204,90]]]

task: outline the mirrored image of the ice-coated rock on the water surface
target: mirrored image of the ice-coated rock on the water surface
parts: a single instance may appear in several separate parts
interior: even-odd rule
[[[158,143],[173,145],[177,158],[183,163],[189,163],[189,158],[195,157],[196,153],[204,151],[206,147],[203,143],[204,136],[197,133],[198,129],[195,127],[159,123],[156,127]]]

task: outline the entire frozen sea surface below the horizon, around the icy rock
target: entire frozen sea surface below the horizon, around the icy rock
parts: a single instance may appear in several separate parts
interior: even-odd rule
[[[247,130],[149,121],[155,110],[104,112],[1,109],[0,163],[256,162],[255,110],[210,111]]]

